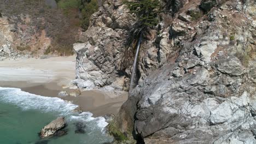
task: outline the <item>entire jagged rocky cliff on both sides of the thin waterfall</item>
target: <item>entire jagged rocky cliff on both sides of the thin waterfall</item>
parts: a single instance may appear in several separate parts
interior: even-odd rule
[[[162,1],[144,35],[138,86],[119,112],[142,143],[256,143],[255,1]],[[135,23],[121,1],[92,15],[74,44],[81,89],[127,90]],[[152,72],[153,71],[153,72]]]

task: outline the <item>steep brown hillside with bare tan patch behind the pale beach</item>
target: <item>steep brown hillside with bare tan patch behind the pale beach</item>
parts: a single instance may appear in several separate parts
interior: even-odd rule
[[[55,0],[1,0],[0,8],[0,46],[8,51],[0,52],[3,57],[73,53],[79,20],[64,15]]]

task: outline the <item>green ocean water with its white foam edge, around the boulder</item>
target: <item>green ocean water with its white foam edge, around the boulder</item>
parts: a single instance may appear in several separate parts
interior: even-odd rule
[[[59,98],[30,94],[18,88],[0,87],[0,143],[1,144],[101,144],[112,141],[105,133],[107,123],[92,113],[73,113],[77,105]],[[57,117],[64,116],[68,134],[40,139],[38,133]],[[85,133],[75,133],[75,123],[85,125]]]

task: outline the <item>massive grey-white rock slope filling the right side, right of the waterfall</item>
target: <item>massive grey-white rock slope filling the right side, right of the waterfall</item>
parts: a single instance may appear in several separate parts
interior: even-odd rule
[[[146,144],[256,143],[256,4],[222,1],[204,18],[178,19],[206,2],[190,1],[174,15],[176,62],[139,82],[121,107],[120,129],[133,128]]]

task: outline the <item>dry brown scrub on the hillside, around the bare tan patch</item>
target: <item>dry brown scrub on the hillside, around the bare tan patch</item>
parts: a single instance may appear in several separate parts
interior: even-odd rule
[[[0,0],[0,9],[6,16],[17,17],[17,19],[10,19],[11,23],[21,23],[28,27],[25,32],[29,34],[28,36],[25,35],[28,39],[34,37],[33,35],[36,33],[45,31],[46,37],[51,39],[51,49],[49,49],[51,52],[55,52],[59,55],[73,55],[72,44],[77,41],[79,29],[79,19],[76,17],[78,13],[77,10],[72,9],[72,13],[64,15],[63,11],[60,9],[47,7],[44,0]],[[26,24],[21,19],[21,14],[30,15],[31,22]],[[25,41],[25,43],[30,45],[30,40]],[[40,42],[38,41],[38,43]],[[39,48],[40,47],[34,47],[33,44],[34,53],[37,53],[36,51],[39,51]],[[20,51],[28,50],[24,46],[18,46],[17,49]]]

